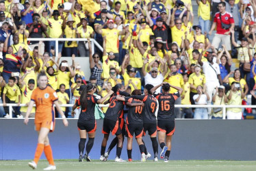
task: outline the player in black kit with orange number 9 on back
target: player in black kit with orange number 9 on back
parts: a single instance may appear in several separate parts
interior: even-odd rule
[[[136,95],[131,97],[139,99],[140,101],[143,101],[145,104],[142,110],[143,129],[144,129],[143,132],[144,132],[144,135],[146,135],[146,131],[149,132],[152,146],[153,146],[154,161],[158,161],[157,120],[155,116],[158,104],[157,104],[157,99],[154,96],[152,96],[150,91],[153,87],[154,86],[151,84],[146,84],[144,88],[144,95],[140,95],[140,96]],[[146,148],[145,148],[145,154],[146,154]],[[146,159],[148,159],[149,157],[151,157],[151,155],[149,153],[146,154]]]

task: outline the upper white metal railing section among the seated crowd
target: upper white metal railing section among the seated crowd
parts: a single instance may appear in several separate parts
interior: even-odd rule
[[[87,38],[27,38],[27,41],[55,41],[55,54],[59,53],[59,41],[83,41],[83,42],[87,42]],[[101,45],[94,40],[94,38],[90,38],[90,42],[92,42],[92,54],[94,54],[94,47],[95,45],[101,50],[103,51],[103,48],[101,47]],[[33,49],[31,49],[31,51],[33,51]]]

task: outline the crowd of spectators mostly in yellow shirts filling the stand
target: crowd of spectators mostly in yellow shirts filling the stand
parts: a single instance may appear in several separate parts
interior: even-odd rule
[[[6,103],[17,103],[14,117],[24,116],[27,107],[19,105],[29,103],[41,70],[60,104],[74,104],[88,82],[96,96],[104,96],[117,83],[131,94],[164,81],[183,88],[177,105],[213,105],[175,107],[176,118],[222,118],[214,105],[241,105],[248,94],[255,105],[256,1],[196,3],[197,11],[191,0],[0,1],[0,116],[8,118]],[[196,12],[199,25],[194,25]],[[84,41],[60,41],[55,54],[55,41],[27,38]],[[90,38],[103,51],[92,49]],[[72,64],[62,56],[71,57]],[[89,57],[90,73],[84,73],[78,57]],[[68,107],[62,110],[71,115]],[[104,111],[97,106],[97,118]],[[227,108],[227,118],[241,119],[242,109]]]

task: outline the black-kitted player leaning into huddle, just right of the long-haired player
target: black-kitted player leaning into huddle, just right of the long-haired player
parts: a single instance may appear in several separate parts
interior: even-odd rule
[[[114,86],[112,90],[114,91],[114,94],[109,100],[110,105],[107,108],[107,111],[105,113],[105,118],[103,121],[102,133],[104,134],[104,137],[101,143],[100,160],[101,161],[106,160],[106,158],[104,157],[105,148],[107,146],[107,140],[108,140],[108,137],[110,136],[110,131],[111,131],[112,135],[116,135],[116,137],[118,138],[115,161],[123,162],[124,160],[120,158],[122,148],[123,148],[123,135],[122,135],[122,129],[121,129],[123,125],[122,123],[120,123],[122,122],[122,119],[120,118],[123,118],[123,107],[125,103],[123,101],[118,101],[116,99],[116,96],[119,94],[119,91],[123,90],[123,85],[116,84],[116,86]]]

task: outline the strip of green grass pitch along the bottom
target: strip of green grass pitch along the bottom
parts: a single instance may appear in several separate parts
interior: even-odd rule
[[[18,161],[0,161],[0,170],[32,170],[27,165],[29,161],[18,160]],[[78,162],[75,159],[71,160],[55,160],[55,165],[57,170],[67,170],[67,171],[80,171],[80,170],[116,170],[116,171],[126,171],[126,170],[139,170],[139,171],[247,171],[256,170],[256,161],[169,161],[164,163],[163,160],[158,162],[153,162],[152,160],[146,161],[144,163],[140,161],[116,163],[114,161],[101,162],[93,160],[92,162]],[[46,160],[40,160],[38,163],[38,168],[36,170],[42,170],[48,166]]]

